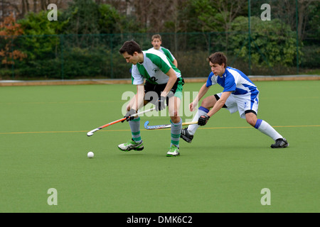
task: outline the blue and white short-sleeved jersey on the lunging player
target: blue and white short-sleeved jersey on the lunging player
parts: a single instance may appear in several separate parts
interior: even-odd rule
[[[220,86],[223,87],[223,92],[232,92],[234,95],[257,95],[259,93],[259,90],[249,77],[233,67],[226,67],[222,77],[215,76],[213,72],[211,72],[208,76],[206,87],[214,84],[220,84]]]

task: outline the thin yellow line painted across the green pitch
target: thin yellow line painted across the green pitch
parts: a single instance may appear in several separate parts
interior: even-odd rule
[[[272,126],[274,128],[302,128],[302,127],[320,127],[320,126]],[[244,127],[214,127],[214,128],[199,128],[199,129],[235,129],[235,128],[253,128],[251,126]],[[170,128],[164,128],[162,130],[170,130]],[[119,132],[119,131],[130,131],[129,129],[113,129],[113,130],[101,130],[102,132]],[[146,130],[141,131],[156,131],[156,130]],[[0,133],[0,134],[35,134],[35,133],[87,133],[88,131],[42,131],[42,132],[12,132],[12,133]]]

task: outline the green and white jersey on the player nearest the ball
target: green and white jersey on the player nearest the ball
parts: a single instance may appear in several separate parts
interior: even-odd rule
[[[176,77],[181,77],[181,72],[159,50],[142,51],[144,62],[132,65],[132,84],[143,84],[144,78],[151,84],[166,84],[169,80],[167,72],[170,68],[176,72]]]

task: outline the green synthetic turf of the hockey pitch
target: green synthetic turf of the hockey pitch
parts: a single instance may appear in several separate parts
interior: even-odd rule
[[[255,84],[258,117],[289,148],[271,149],[238,113],[221,110],[191,144],[180,141],[180,157],[166,157],[170,130],[143,128],[169,123],[166,116],[143,116],[144,150],[122,153],[127,122],[86,133],[122,117],[122,94],[133,85],[0,87],[0,212],[319,212],[320,83]],[[56,206],[47,203],[50,188]],[[260,203],[264,188],[271,205]]]

